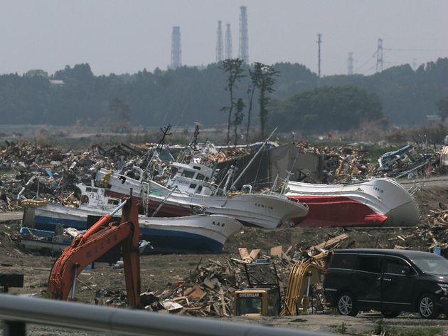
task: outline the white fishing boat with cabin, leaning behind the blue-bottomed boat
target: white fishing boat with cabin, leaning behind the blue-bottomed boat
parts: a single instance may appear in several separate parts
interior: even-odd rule
[[[144,182],[143,172],[138,173],[139,179],[134,179],[127,172],[119,174],[100,169],[97,182],[107,184],[114,197],[129,195],[132,189],[133,197],[150,211],[156,211],[156,216],[188,216],[194,211],[203,211],[231,216],[250,226],[275,228],[285,222],[297,224],[308,213],[305,204],[275,193],[213,196],[212,169],[203,164],[174,163],[171,169],[168,182],[171,189],[154,181]]]

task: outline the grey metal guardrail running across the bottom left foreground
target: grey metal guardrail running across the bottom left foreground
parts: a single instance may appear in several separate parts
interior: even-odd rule
[[[124,308],[107,308],[7,294],[0,294],[0,320],[4,320],[4,336],[26,335],[26,322],[92,332],[107,332],[108,335],[331,336],[330,334],[302,330],[165,315]]]

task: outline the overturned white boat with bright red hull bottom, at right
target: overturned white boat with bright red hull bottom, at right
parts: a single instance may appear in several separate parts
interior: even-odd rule
[[[286,196],[309,206],[301,226],[413,226],[419,211],[412,196],[393,179],[348,184],[288,182]]]

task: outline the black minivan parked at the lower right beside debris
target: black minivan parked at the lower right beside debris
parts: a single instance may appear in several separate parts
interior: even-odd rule
[[[341,315],[380,310],[435,318],[448,313],[448,260],[434,253],[376,248],[337,250],[324,275],[326,300]]]

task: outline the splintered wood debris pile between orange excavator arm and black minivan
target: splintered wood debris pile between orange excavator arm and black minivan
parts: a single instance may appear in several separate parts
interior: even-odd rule
[[[294,298],[294,307],[300,307],[301,310],[310,309],[311,313],[322,312],[327,308],[319,277],[313,278],[314,282],[310,284],[308,291],[304,279],[301,279],[299,288],[294,286],[293,283],[297,283],[300,279],[293,270],[302,264],[314,267],[318,271],[325,270],[326,257],[332,249],[340,247],[339,243],[346,238],[348,235],[343,233],[309,248],[295,250],[291,246],[286,252],[282,246],[274,246],[269,254],[262,253],[258,248],[250,253],[247,248],[239,248],[240,259],[228,258],[222,262],[208,259],[206,266],[202,266],[200,261],[196,268],[190,271],[188,277],[178,280],[172,288],[160,294],[142,293],[142,305],[146,310],[179,315],[198,317],[234,315],[235,290],[250,287],[246,275],[243,275],[243,266],[270,262],[274,263],[282,298]],[[306,271],[309,270],[310,268],[306,268]],[[250,277],[253,280],[255,275],[251,274]],[[270,280],[268,283],[273,282]],[[125,300],[125,295],[121,292],[101,290],[97,292],[95,303],[121,307]]]

